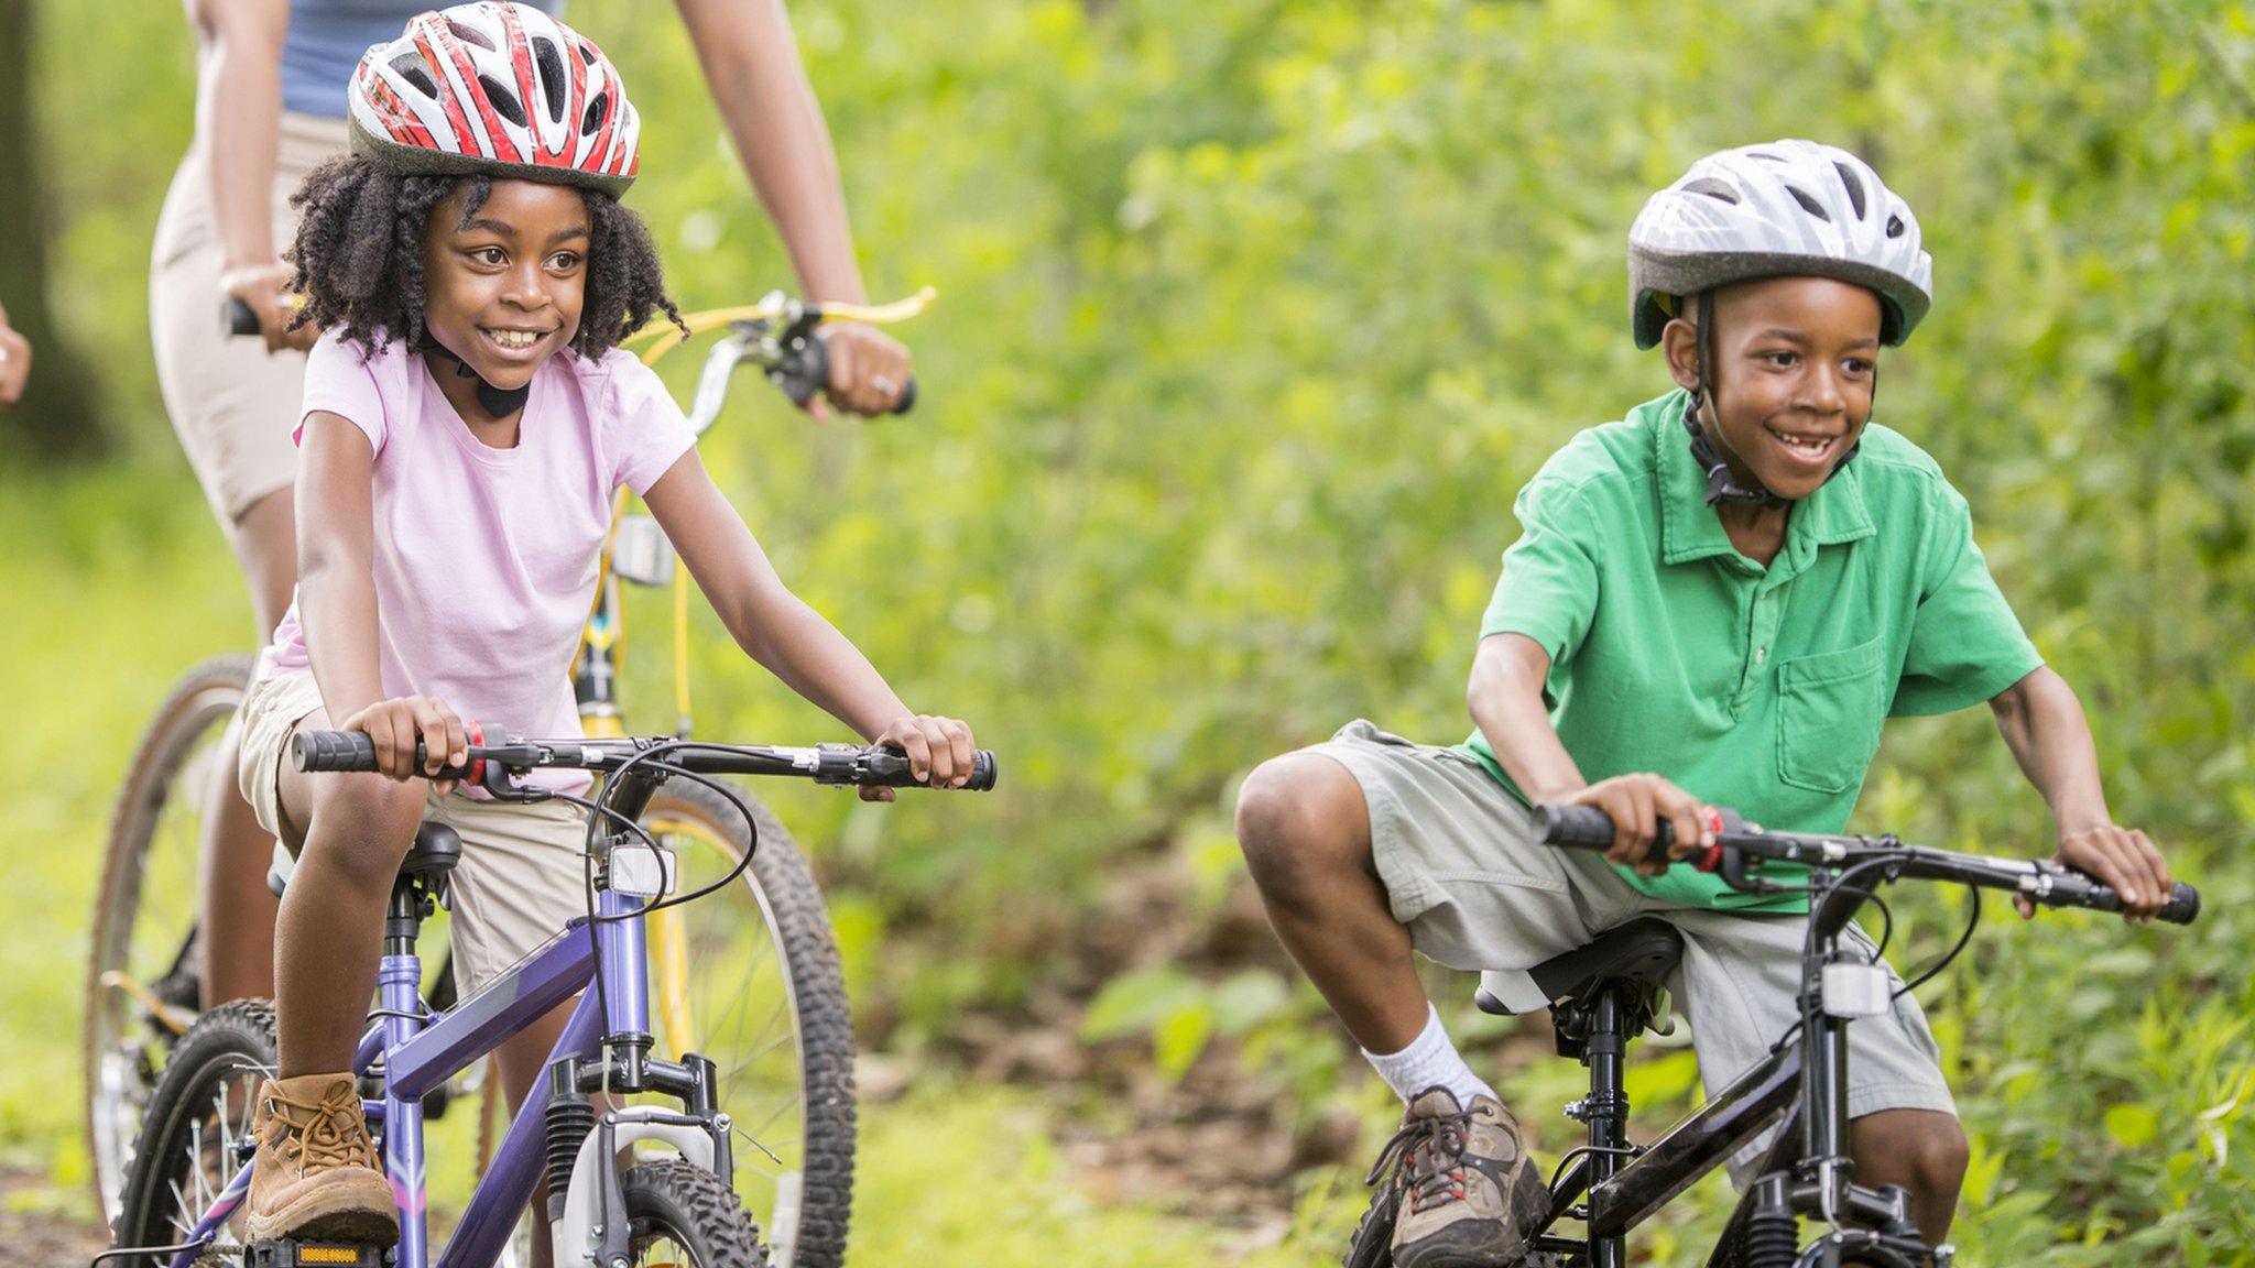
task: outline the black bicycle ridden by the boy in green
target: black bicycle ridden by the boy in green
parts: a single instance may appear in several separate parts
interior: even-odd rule
[[[1540,805],[1542,844],[1583,851],[1612,846],[1612,819],[1590,805]],[[1558,1162],[1549,1185],[1549,1214],[1529,1232],[1518,1263],[1524,1268],[1621,1268],[1628,1232],[1721,1166],[1748,1142],[1779,1128],[1754,1182],[1723,1227],[1707,1268],[1948,1268],[1951,1245],[1928,1245],[1910,1221],[1910,1196],[1894,1185],[1854,1182],[1847,1115],[1847,1027],[1885,1013],[1894,997],[1926,981],[1973,939],[1980,889],[2005,889],[2039,907],[2120,912],[2122,898],[2097,880],[2050,860],[1998,860],[1887,837],[1824,837],[1768,833],[1732,812],[1718,812],[1716,844],[1694,862],[1721,873],[1739,891],[1809,891],[1809,936],[1802,943],[1802,1020],[1770,1047],[1770,1056],[1714,1094],[1648,1146],[1628,1144],[1628,1097],[1621,1067],[1628,1040],[1653,1027],[1660,984],[1682,957],[1682,934],[1660,916],[1630,921],[1594,943],[1554,957],[1524,975],[1488,975],[1479,1009],[1513,1015],[1547,1006],[1558,1031],[1558,1054],[1590,1069],[1590,1097],[1567,1106],[1588,1126],[1581,1144]],[[1660,824],[1653,857],[1666,857],[1669,824]],[[1761,864],[1809,869],[1806,882],[1781,884]],[[1876,954],[1842,943],[1856,909],[1894,880],[1942,880],[1975,889],[1964,936],[1919,981],[1890,986]],[[2190,925],[2201,912],[2194,887],[2178,882],[2160,918]],[[1346,1250],[1348,1268],[1391,1263],[1387,1243],[1400,1189],[1371,1198]],[[1560,1232],[1578,1223],[1581,1234]],[[1802,1221],[1818,1234],[1802,1243]]]

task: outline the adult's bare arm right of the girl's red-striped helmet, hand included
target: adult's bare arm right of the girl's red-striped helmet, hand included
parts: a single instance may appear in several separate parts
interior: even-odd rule
[[[776,221],[810,300],[868,302],[823,108],[782,0],[674,0],[697,45],[751,187]],[[909,350],[873,325],[834,325],[830,381],[857,413],[884,413],[909,381]],[[879,388],[879,379],[888,388]]]

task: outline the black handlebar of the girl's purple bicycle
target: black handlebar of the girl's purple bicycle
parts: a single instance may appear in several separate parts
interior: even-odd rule
[[[498,727],[471,727],[471,733],[501,736]],[[658,749],[658,751],[654,751]],[[428,778],[458,778],[492,787],[501,774],[530,769],[584,769],[609,774],[643,754],[647,763],[665,763],[692,774],[773,774],[812,778],[814,783],[850,783],[857,787],[931,787],[918,783],[909,756],[882,745],[816,745],[812,749],[776,749],[755,745],[708,745],[704,740],[629,738],[629,740],[523,740],[507,736],[501,745],[469,745],[469,763],[444,767]],[[428,754],[415,742],[415,765]],[[372,772],[377,742],[365,731],[298,731],[291,738],[291,765],[302,772]],[[997,765],[990,749],[972,756],[972,778],[963,792],[994,787]]]

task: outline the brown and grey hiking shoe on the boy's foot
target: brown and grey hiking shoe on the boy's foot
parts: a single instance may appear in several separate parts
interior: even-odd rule
[[[1367,1182],[1394,1171],[1398,1268],[1502,1268],[1549,1214],[1549,1189],[1493,1097],[1459,1108],[1448,1088],[1409,1101]]]

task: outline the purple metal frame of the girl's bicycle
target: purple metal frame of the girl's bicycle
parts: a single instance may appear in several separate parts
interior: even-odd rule
[[[634,819],[658,783],[640,772],[629,774],[604,792],[604,803]],[[363,1101],[363,1110],[370,1128],[381,1130],[383,1171],[399,1205],[399,1248],[392,1268],[492,1268],[546,1166],[548,1097],[532,1094],[516,1110],[516,1119],[478,1180],[435,1266],[424,1205],[424,1097],[573,995],[580,995],[580,1004],[548,1054],[546,1067],[550,1072],[559,1063],[577,1067],[577,1063],[600,1060],[591,1072],[595,1085],[622,1092],[683,1094],[690,1101],[690,1115],[713,1119],[710,1069],[697,1058],[683,1067],[647,1058],[649,986],[643,900],[600,887],[595,891],[598,921],[573,921],[476,995],[446,1013],[426,1018],[419,993],[422,959],[415,954],[426,893],[422,882],[406,878],[392,891],[383,927],[383,959],[377,970],[379,1011],[374,1024],[361,1036],[354,1072],[363,1078],[379,1072],[374,1076],[383,1088],[383,1097]],[[600,1002],[593,990],[586,990],[595,981],[598,966],[602,968]],[[616,1063],[602,1056],[607,1049],[618,1049]],[[719,1117],[717,1126],[713,1162],[726,1180],[726,1119]],[[192,1268],[203,1248],[214,1241],[219,1227],[250,1191],[250,1171],[244,1166],[235,1173],[183,1241],[185,1250],[171,1257],[171,1268]]]

